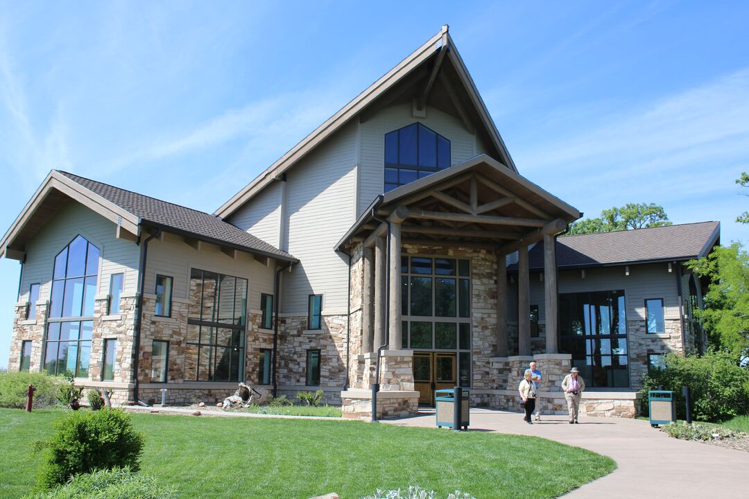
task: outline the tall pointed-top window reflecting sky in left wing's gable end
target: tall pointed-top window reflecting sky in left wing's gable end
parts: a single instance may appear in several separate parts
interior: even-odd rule
[[[99,249],[82,236],[55,257],[44,349],[50,374],[88,377],[98,272]]]

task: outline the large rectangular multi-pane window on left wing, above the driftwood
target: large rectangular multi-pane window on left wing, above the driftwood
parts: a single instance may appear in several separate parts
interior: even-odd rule
[[[246,303],[246,279],[192,269],[185,376],[194,381],[241,379]]]

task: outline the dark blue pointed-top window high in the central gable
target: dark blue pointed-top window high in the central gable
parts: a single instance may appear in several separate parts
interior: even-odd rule
[[[421,123],[385,134],[385,192],[450,166],[450,141]]]

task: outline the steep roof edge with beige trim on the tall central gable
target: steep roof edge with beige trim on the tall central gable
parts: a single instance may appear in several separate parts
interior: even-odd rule
[[[442,51],[444,52],[440,54]],[[413,74],[417,68],[434,61],[434,64],[437,64],[437,70],[439,70],[439,64],[443,63],[443,60],[449,61],[452,64],[455,77],[461,83],[464,92],[470,100],[472,114],[478,117],[478,120],[482,123],[488,134],[491,144],[497,150],[499,156],[497,159],[506,168],[517,172],[515,163],[509,155],[500,132],[497,130],[497,126],[494,124],[494,120],[491,119],[488,109],[479,95],[479,91],[476,89],[476,84],[473,82],[463,59],[458,53],[458,49],[455,48],[455,44],[448,34],[448,26],[443,25],[437,34],[427,40],[426,43],[416,49],[397,66],[393,67],[392,70],[385,73],[380,79],[370,85],[369,88],[355,97],[354,100],[348,102],[347,105],[336,112],[336,114],[333,114],[332,117],[328,118],[312,133],[303,138],[299,144],[281,156],[273,165],[270,165],[270,167],[258,175],[258,177],[255,177],[255,180],[252,180],[240,192],[237,192],[236,195],[220,206],[219,209],[216,209],[214,214],[221,218],[231,215],[236,209],[264,189],[268,183],[282,175],[291,166],[315,149],[318,144],[321,144],[327,137],[344,126],[345,123],[348,123],[349,120],[356,117],[361,111],[364,111],[380,97],[383,97],[386,92],[391,91],[395,85],[398,85],[407,76]],[[433,75],[429,77],[429,84],[434,82],[437,70],[434,70]]]

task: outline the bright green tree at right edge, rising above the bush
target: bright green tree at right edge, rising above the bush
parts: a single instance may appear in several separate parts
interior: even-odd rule
[[[712,343],[737,357],[749,354],[749,253],[741,243],[715,248],[687,266],[709,277],[705,310],[695,310],[711,334]]]

